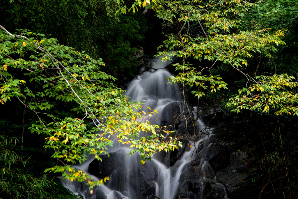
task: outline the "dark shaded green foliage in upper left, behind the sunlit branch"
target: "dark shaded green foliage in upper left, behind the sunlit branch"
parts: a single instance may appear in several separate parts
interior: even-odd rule
[[[138,66],[132,53],[144,39],[146,22],[140,13],[112,18],[109,13],[117,7],[113,2],[4,0],[0,2],[0,22],[9,30],[29,29],[58,38],[66,46],[103,58],[106,65],[102,70],[131,75]]]

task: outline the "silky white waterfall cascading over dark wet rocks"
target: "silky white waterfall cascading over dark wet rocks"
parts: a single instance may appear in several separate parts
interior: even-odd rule
[[[179,110],[176,115],[185,118],[181,114],[181,106],[184,105],[178,85],[167,84],[167,78],[171,76],[170,72],[164,69],[164,65],[156,65],[157,62],[154,60],[155,69],[144,72],[130,83],[125,95],[130,96],[133,101],[145,100],[146,106],[144,107],[158,111],[156,115],[148,118],[149,121],[152,124],[164,125],[169,124],[173,118],[173,110]],[[145,108],[141,111],[149,112],[150,110]],[[203,198],[204,180],[210,178],[214,181],[215,179],[214,172],[208,162],[210,157],[207,155],[209,146],[212,145],[208,136],[212,135],[212,131],[206,131],[203,122],[199,119],[197,130],[203,133],[198,133],[198,139],[186,143],[188,146],[184,147],[184,151],[180,153],[173,166],[161,161],[165,162],[165,159],[169,159],[168,157],[171,155],[169,153],[159,153],[153,157],[152,161],[141,166],[138,154],[127,156],[130,149],[115,144],[108,150],[110,158],[107,158],[106,155],[102,156],[103,162],[98,162],[90,156],[88,161],[75,166],[84,172],[94,174],[93,178],[96,180],[105,176],[110,177],[105,185],[95,187],[92,195],[89,192],[89,187],[81,183],[67,180],[63,180],[62,183],[72,192],[81,194],[86,199],[120,199],[123,197],[127,199],[151,199],[154,198],[153,195],[160,199],[174,199],[177,196],[177,190],[182,189],[179,188],[179,184],[182,186],[181,175],[184,175],[187,169],[192,168],[194,162],[198,162],[196,165],[199,168],[199,175],[195,178],[198,179],[200,185],[197,186],[200,188],[196,193],[190,193],[190,195],[195,198]],[[96,172],[93,171],[94,167]],[[225,196],[225,193],[222,196]]]

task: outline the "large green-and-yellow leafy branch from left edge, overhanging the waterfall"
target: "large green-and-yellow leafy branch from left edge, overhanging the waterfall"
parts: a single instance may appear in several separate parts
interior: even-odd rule
[[[84,162],[85,152],[101,160],[107,146],[118,141],[129,144],[131,153],[139,152],[144,164],[157,149],[181,146],[177,138],[162,135],[169,131],[159,134],[162,129],[148,122],[156,110],[134,111],[142,110],[141,104],[128,101],[124,91],[113,84],[115,78],[99,70],[105,65],[101,58],[93,59],[43,34],[24,30],[13,35],[1,28],[1,104],[12,101],[35,115],[37,121],[29,129],[46,136],[45,148],[52,149],[57,160],[46,171],[61,172],[71,181],[86,181],[93,188],[108,178],[92,181],[70,166]],[[58,103],[72,106],[69,111],[75,118],[52,111]],[[89,127],[90,122],[95,127]]]

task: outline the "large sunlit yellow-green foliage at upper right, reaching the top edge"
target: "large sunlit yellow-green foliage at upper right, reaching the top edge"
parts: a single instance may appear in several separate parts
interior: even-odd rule
[[[151,2],[151,1],[150,1]],[[285,30],[277,30],[269,33],[267,29],[258,27],[250,30],[240,30],[243,21],[240,19],[251,7],[257,3],[249,1],[152,1],[154,4],[146,4],[146,9],[156,11],[156,16],[164,20],[165,26],[179,27],[176,33],[166,35],[166,40],[158,47],[157,56],[164,55],[163,60],[177,56],[185,59],[197,59],[214,61],[210,67],[198,67],[198,71],[210,70],[216,61],[227,63],[230,67],[242,73],[248,81],[254,81],[245,74],[241,67],[247,67],[247,60],[253,57],[254,53],[263,53],[271,57],[277,51],[277,46],[285,43],[281,38]],[[134,3],[135,4],[135,3]],[[195,27],[201,32],[192,29]],[[174,50],[170,52],[170,50]],[[176,65],[181,66],[181,65]],[[183,65],[184,66],[184,65]],[[201,72],[183,71],[179,76],[181,79],[184,73],[187,81],[197,82],[198,74]],[[179,77],[177,77],[179,78]],[[212,78],[205,76],[201,80],[212,82]],[[186,80],[184,78],[184,80]],[[183,82],[183,81],[181,81]],[[225,83],[222,81],[221,84]],[[199,84],[197,84],[199,85]],[[211,89],[214,91],[214,89]],[[200,92],[200,91],[199,91]],[[196,93],[196,92],[195,92]],[[203,96],[202,93],[201,95]]]

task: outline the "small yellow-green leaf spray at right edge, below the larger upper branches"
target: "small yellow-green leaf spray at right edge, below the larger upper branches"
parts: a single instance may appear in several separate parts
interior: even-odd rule
[[[283,113],[298,115],[298,94],[290,89],[298,86],[298,82],[292,82],[294,77],[287,74],[273,76],[258,76],[257,84],[238,91],[226,104],[226,107],[236,107],[232,111],[240,112],[241,109],[258,110],[269,113],[273,109],[276,115]]]

